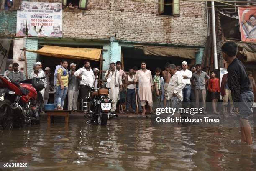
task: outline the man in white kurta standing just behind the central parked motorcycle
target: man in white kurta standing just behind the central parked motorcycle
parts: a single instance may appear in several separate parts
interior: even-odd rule
[[[111,81],[106,84],[106,87],[111,88],[108,94],[108,98],[115,100],[115,103],[111,106],[111,112],[115,112],[116,103],[120,99],[119,91],[123,91],[121,75],[119,71],[115,70],[115,63],[110,64],[110,69],[106,71],[104,78],[111,79]]]

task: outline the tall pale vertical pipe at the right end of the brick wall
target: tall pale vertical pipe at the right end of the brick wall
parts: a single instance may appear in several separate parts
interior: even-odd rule
[[[212,6],[212,41],[213,41],[212,43],[213,43],[214,69],[218,69],[214,1],[211,2],[211,6]]]

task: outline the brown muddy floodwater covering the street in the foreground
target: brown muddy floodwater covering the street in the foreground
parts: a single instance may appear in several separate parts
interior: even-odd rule
[[[150,119],[112,119],[107,126],[71,117],[47,126],[0,131],[0,161],[31,171],[255,171],[254,145],[239,128],[156,127]],[[10,170],[10,169],[6,169]],[[13,169],[11,169],[13,170]]]

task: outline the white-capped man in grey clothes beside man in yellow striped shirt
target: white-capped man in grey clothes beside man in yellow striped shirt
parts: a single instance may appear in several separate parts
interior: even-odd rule
[[[77,64],[70,64],[69,85],[68,85],[68,110],[77,111],[77,98],[80,89],[80,80],[75,77]]]

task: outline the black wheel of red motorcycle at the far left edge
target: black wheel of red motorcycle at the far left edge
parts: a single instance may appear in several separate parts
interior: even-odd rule
[[[3,100],[0,102],[0,124],[3,129],[11,130],[13,128],[13,110],[10,107],[10,100]]]

